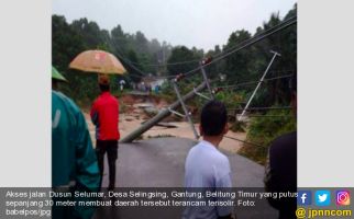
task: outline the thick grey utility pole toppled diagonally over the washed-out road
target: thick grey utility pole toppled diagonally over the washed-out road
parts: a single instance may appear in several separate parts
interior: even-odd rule
[[[202,91],[203,89],[206,89],[207,83],[202,82],[200,85],[198,85],[196,88],[196,90],[190,91],[189,93],[187,93],[185,96],[182,96],[182,101],[186,102],[192,97],[195,97],[196,92]],[[164,108],[163,111],[161,111],[156,116],[154,116],[153,118],[151,118],[150,120],[147,120],[146,123],[144,123],[141,127],[139,127],[137,129],[135,129],[134,131],[132,131],[131,134],[129,134],[128,136],[125,136],[123,139],[120,140],[120,142],[122,143],[128,143],[128,142],[132,142],[134,139],[136,139],[137,137],[140,137],[142,134],[144,134],[146,130],[148,130],[150,128],[152,128],[153,126],[155,126],[156,124],[158,124],[161,120],[163,120],[164,118],[166,118],[167,116],[169,116],[172,114],[170,110],[174,111],[177,107],[180,106],[180,101],[177,100],[176,102],[174,102],[169,107]]]

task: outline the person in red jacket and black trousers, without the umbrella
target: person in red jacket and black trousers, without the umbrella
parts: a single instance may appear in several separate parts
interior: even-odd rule
[[[109,186],[108,189],[113,189],[115,185],[115,161],[118,159],[118,140],[119,134],[119,103],[118,100],[110,93],[109,77],[99,74],[98,83],[101,94],[92,104],[91,119],[96,126],[96,154],[98,165],[103,176],[103,161],[107,152],[109,165]]]

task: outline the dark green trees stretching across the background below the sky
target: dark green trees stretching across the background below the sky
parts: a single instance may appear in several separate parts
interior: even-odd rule
[[[139,82],[142,77],[147,74],[174,76],[188,72],[197,68],[203,57],[218,57],[226,54],[244,41],[272,28],[296,14],[296,5],[284,19],[280,19],[278,13],[273,13],[268,21],[257,27],[256,33],[252,34],[245,30],[235,30],[230,34],[225,45],[215,45],[214,49],[207,53],[196,47],[187,48],[182,45],[174,47],[166,42],[161,43],[155,38],[148,39],[140,31],[130,34],[124,32],[119,24],[111,31],[107,31],[86,18],[68,23],[64,16],[53,15],[52,65],[69,80],[69,83],[64,84],[62,90],[76,100],[92,100],[98,93],[96,76],[68,69],[69,62],[84,50],[101,48],[114,54],[128,70],[126,76],[119,78],[124,78],[129,82]],[[217,79],[219,74],[226,76],[225,82],[228,84],[257,81],[272,59],[273,54],[269,50],[280,53],[281,57],[276,59],[267,78],[281,76],[285,72],[296,72],[297,26],[292,25],[208,66],[206,68],[207,73],[211,79]],[[191,62],[190,60],[195,61]],[[176,62],[182,64],[175,65]],[[195,77],[190,80],[197,78]],[[224,85],[225,82],[217,82],[217,84]],[[246,100],[254,87],[252,84],[237,88],[234,93],[241,93]],[[230,93],[230,95],[233,95],[232,91]],[[289,96],[288,79],[279,79],[265,82],[255,96],[253,104],[258,106],[285,105],[289,103]]]

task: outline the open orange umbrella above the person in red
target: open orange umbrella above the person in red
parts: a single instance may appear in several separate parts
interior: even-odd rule
[[[69,65],[73,69],[98,73],[123,74],[126,70],[112,54],[104,50],[86,50],[79,54]]]

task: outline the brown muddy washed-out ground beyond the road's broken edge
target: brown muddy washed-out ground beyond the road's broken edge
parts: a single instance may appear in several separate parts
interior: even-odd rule
[[[119,99],[120,102],[120,118],[119,118],[119,130],[121,138],[129,135],[131,131],[135,130],[145,120],[150,119],[150,113],[146,113],[146,108],[151,111],[156,111],[156,113],[168,106],[165,100],[157,96],[135,96],[135,95],[124,95]],[[152,113],[154,114],[154,113]],[[95,126],[90,120],[89,113],[85,112],[85,117],[89,126],[91,138],[95,142]],[[193,139],[193,132],[190,125],[187,122],[177,118],[176,116],[169,116],[164,119],[169,127],[165,126],[154,126],[146,132],[144,132],[141,139],[157,138],[157,137],[181,137]],[[199,130],[199,124],[195,124],[197,130]],[[245,132],[233,132],[229,131],[228,136],[244,140],[246,138]],[[220,148],[232,153],[236,153],[242,147],[242,142],[232,139],[224,138]]]

